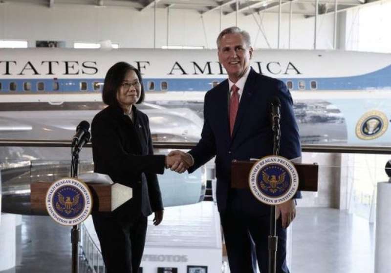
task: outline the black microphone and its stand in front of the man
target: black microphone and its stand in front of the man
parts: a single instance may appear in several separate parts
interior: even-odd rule
[[[273,156],[278,156],[280,152],[280,115],[272,116],[272,131],[273,131]],[[268,236],[269,249],[269,273],[276,273],[276,258],[277,258],[277,232],[276,232],[276,211],[277,206],[270,206],[270,232]]]

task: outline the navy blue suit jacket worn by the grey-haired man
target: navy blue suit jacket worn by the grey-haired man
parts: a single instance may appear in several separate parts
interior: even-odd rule
[[[256,73],[252,68],[244,85],[232,137],[229,133],[228,79],[205,95],[204,126],[201,139],[189,153],[198,167],[216,156],[217,206],[223,213],[231,185],[231,161],[249,160],[273,154],[273,133],[270,124],[270,101],[281,100],[280,155],[288,159],[301,156],[299,129],[293,114],[293,101],[286,85],[278,79]],[[257,213],[268,214],[268,206],[260,203],[250,190],[238,190],[243,206]],[[300,197],[300,193],[295,196]]]

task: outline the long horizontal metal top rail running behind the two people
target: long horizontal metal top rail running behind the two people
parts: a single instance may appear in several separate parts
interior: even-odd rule
[[[197,142],[168,142],[155,141],[155,149],[191,149]],[[0,147],[71,147],[70,140],[48,139],[1,139]],[[85,145],[91,147],[91,143]],[[341,153],[341,154],[391,154],[391,146],[352,146],[352,145],[328,145],[328,144],[303,144],[302,151],[308,153]]]

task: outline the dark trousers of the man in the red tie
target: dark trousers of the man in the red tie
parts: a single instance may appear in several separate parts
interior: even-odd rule
[[[227,209],[220,213],[225,246],[231,273],[256,273],[256,264],[261,273],[269,267],[268,235],[270,214],[263,214],[247,207],[241,196],[231,194]],[[286,229],[282,228],[281,218],[277,220],[278,236],[276,273],[289,273],[286,266]]]

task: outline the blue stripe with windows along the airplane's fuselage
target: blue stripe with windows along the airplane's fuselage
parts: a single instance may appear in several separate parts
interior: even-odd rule
[[[292,82],[291,90],[311,90],[311,82],[316,82],[316,90],[381,90],[391,89],[391,65],[380,70],[351,77],[334,78],[280,78],[285,83]],[[144,87],[149,92],[161,91],[206,91],[213,87],[214,83],[221,82],[222,78],[144,78]],[[1,79],[0,94],[39,94],[39,93],[99,93],[103,83],[103,78],[59,78],[59,79]],[[26,83],[31,84],[31,90],[25,91]],[[43,82],[44,91],[38,90],[38,83]],[[58,82],[59,90],[55,90],[55,82]],[[87,84],[87,89],[82,90],[83,82]],[[150,87],[153,82],[153,90]],[[16,84],[16,90],[10,91],[11,83]],[[302,88],[299,88],[299,84]],[[95,88],[94,88],[95,86]],[[96,87],[99,88],[96,88]],[[164,87],[167,86],[167,89]]]

